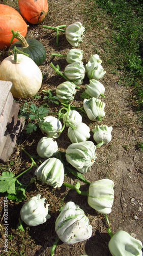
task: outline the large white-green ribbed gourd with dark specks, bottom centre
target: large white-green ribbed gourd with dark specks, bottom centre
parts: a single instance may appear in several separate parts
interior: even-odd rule
[[[65,244],[75,244],[92,236],[92,225],[84,211],[70,201],[55,221],[55,232]]]

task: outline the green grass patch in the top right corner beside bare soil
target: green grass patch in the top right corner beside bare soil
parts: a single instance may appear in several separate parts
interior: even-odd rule
[[[106,54],[104,63],[111,68],[111,73],[124,73],[119,82],[130,86],[133,93],[135,110],[143,109],[143,4],[137,0],[91,0],[85,1],[85,20],[88,28],[105,29],[109,36],[102,41],[102,49]],[[98,17],[102,17],[102,19]],[[101,22],[103,20],[103,22]],[[86,24],[86,22],[85,22]],[[96,41],[96,38],[95,38]],[[94,43],[93,43],[94,44]],[[95,44],[95,51],[96,51]],[[98,51],[96,51],[98,54]]]

